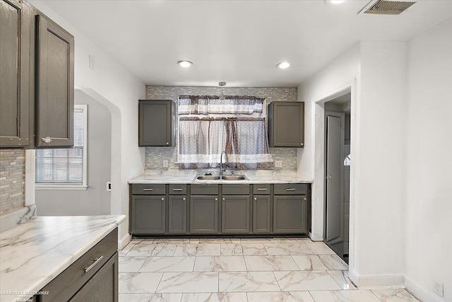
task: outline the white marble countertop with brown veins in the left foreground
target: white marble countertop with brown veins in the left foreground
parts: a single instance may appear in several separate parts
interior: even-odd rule
[[[26,301],[124,221],[37,216],[0,233],[0,301]]]

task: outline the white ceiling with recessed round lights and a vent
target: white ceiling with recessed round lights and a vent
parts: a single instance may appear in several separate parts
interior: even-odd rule
[[[44,2],[143,83],[165,86],[295,87],[360,40],[410,40],[452,15],[450,0],[400,16],[358,15],[368,0]]]

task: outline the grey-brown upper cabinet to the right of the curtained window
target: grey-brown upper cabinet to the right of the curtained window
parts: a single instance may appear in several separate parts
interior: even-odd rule
[[[304,102],[272,102],[268,105],[270,147],[304,147]]]

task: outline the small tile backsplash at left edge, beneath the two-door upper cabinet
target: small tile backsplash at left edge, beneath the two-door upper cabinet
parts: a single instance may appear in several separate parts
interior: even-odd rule
[[[0,149],[0,216],[25,207],[25,151]]]

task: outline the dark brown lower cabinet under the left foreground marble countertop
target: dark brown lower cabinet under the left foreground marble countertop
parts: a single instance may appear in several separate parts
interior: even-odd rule
[[[76,262],[44,286],[37,302],[118,301],[118,229],[109,233]]]

